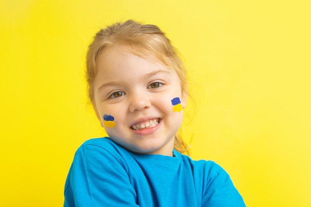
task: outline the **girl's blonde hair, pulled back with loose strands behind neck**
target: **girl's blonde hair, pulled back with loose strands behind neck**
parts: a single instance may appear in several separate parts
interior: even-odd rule
[[[138,56],[153,55],[165,66],[174,69],[180,78],[181,90],[187,94],[186,72],[178,56],[177,50],[170,40],[156,25],[141,24],[134,20],[117,22],[101,29],[94,36],[93,42],[88,46],[86,55],[86,80],[88,83],[88,96],[94,105],[93,84],[97,74],[96,61],[98,56],[112,46],[127,46],[130,53]],[[180,153],[190,154],[188,145],[183,141],[180,133],[175,134],[174,148]]]

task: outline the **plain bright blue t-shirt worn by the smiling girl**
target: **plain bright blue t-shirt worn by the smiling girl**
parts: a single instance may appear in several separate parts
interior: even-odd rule
[[[110,138],[84,142],[65,184],[64,207],[245,207],[218,164],[135,154]]]

